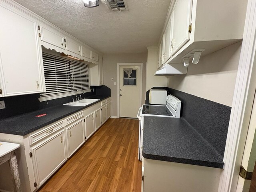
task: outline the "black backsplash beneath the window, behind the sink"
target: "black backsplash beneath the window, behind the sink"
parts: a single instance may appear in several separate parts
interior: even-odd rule
[[[110,88],[108,88],[107,86],[91,86],[91,89],[91,92],[81,94],[82,98],[87,98],[92,95],[110,96]],[[40,102],[38,100],[39,95],[40,94],[29,94],[0,98],[0,100],[4,100],[6,107],[5,109],[0,110],[0,120],[11,116],[32,112],[35,110],[49,108],[56,105],[62,105],[64,103],[71,102],[72,98],[75,98],[75,96],[72,95],[64,98],[48,100],[47,102]]]

